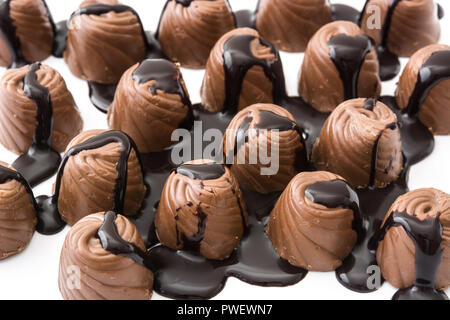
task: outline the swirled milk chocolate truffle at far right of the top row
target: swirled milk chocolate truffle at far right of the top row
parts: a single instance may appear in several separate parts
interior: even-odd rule
[[[375,24],[381,24],[381,28],[374,27]],[[437,43],[441,35],[434,0],[369,0],[361,29],[377,45],[400,57],[410,57],[420,48]]]

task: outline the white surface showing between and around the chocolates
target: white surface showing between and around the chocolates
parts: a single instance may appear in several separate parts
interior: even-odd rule
[[[165,0],[123,0],[140,14],[146,30],[154,31]],[[230,0],[234,10],[253,9],[256,0]],[[364,0],[331,1],[346,3],[361,9]],[[443,35],[441,43],[450,44],[450,1],[438,1],[445,9],[442,20]],[[47,0],[55,21],[67,19],[79,4],[77,0]],[[297,74],[300,70],[303,54],[281,53],[289,95],[297,94]],[[403,65],[407,61],[402,61]],[[86,82],[75,78],[62,59],[49,58],[45,61],[57,69],[67,82],[78,107],[80,108],[84,129],[107,128],[106,116],[98,112],[90,103]],[[4,69],[0,69],[3,74]],[[203,71],[183,70],[193,103],[200,102],[199,89]],[[383,94],[393,94],[398,78],[383,83]],[[16,156],[0,147],[0,160],[12,163]],[[414,166],[410,174],[411,190],[435,187],[450,193],[450,137],[436,137],[436,149],[425,161]],[[35,195],[51,194],[54,179],[34,189]],[[66,229],[55,236],[43,236],[35,233],[31,244],[22,253],[0,261],[0,299],[61,299],[58,290],[59,254],[68,231]],[[390,299],[396,289],[385,283],[383,287],[370,294],[359,294],[341,286],[334,272],[310,272],[297,285],[285,288],[262,288],[251,286],[230,278],[218,299]],[[450,290],[447,290],[450,295]],[[157,294],[154,299],[161,299]]]

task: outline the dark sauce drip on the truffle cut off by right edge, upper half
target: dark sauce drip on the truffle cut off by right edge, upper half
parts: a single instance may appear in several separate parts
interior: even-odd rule
[[[406,107],[407,114],[416,116],[431,89],[448,79],[450,79],[450,50],[436,51],[419,70],[416,85]]]

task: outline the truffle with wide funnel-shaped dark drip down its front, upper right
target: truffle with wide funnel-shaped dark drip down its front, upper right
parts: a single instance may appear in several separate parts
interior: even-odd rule
[[[354,23],[329,23],[314,34],[305,51],[299,94],[320,112],[341,102],[376,98],[381,92],[375,47]]]

